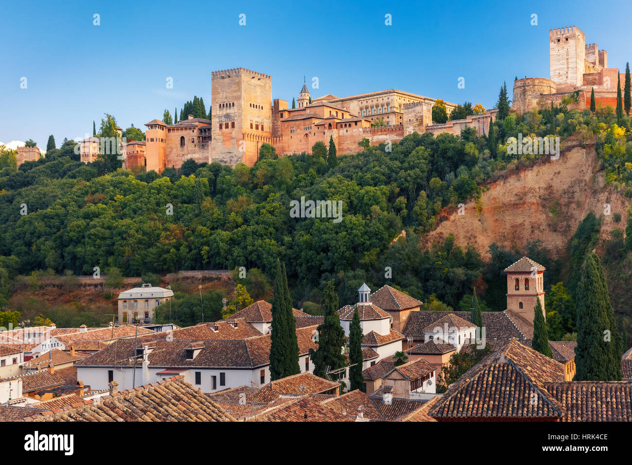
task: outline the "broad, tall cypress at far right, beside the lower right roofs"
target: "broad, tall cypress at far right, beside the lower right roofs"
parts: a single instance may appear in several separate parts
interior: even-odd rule
[[[621,335],[599,257],[595,252],[586,264],[577,287],[577,347],[575,381],[621,380]]]

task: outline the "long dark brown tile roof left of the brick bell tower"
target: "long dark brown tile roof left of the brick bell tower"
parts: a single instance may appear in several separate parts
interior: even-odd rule
[[[446,312],[421,310],[411,312],[406,320],[406,325],[402,333],[405,337],[412,337],[417,340],[425,338],[424,329],[436,323],[439,319],[448,314],[454,314],[465,321],[471,321],[470,312]],[[483,325],[485,326],[486,338],[506,338],[530,339],[533,337],[533,324],[521,318],[512,311],[503,312],[483,312]]]

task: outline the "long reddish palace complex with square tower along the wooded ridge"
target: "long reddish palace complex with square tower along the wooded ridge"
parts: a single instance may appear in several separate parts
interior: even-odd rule
[[[277,154],[286,155],[311,152],[316,142],[329,146],[333,138],[337,153],[347,154],[360,150],[362,139],[377,145],[396,142],[413,131],[460,133],[465,127],[475,127],[485,134],[497,111],[432,125],[432,106],[437,100],[430,97],[389,89],[349,97],[327,94],[312,100],[305,83],[296,108],[290,108],[287,100],[272,99],[270,75],[246,68],[213,71],[211,101],[212,120],[188,115],[173,125],[157,119],[145,123],[145,140],[127,142],[123,167],[145,166],[160,173],[181,167],[187,159],[252,166],[262,144],[271,144]],[[449,115],[456,105],[445,103]],[[81,151],[82,161],[93,161],[99,140],[82,141]]]

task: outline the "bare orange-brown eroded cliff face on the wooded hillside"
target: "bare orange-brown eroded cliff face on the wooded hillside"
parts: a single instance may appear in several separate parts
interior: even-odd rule
[[[515,171],[489,186],[482,194],[483,209],[474,202],[465,205],[465,214],[455,211],[449,220],[425,235],[422,246],[454,235],[461,247],[473,245],[489,257],[489,245],[524,250],[527,242],[540,239],[554,256],[564,253],[577,225],[590,211],[601,218],[600,247],[610,239],[613,228],[625,230],[626,197],[605,185],[594,146],[562,151],[560,158],[533,168]],[[609,204],[610,214],[605,214]],[[614,222],[615,213],[621,221]]]

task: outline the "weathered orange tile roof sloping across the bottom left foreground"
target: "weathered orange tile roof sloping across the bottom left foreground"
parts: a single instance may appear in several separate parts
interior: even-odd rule
[[[216,402],[182,380],[168,378],[82,405],[35,414],[25,421],[236,421]]]

